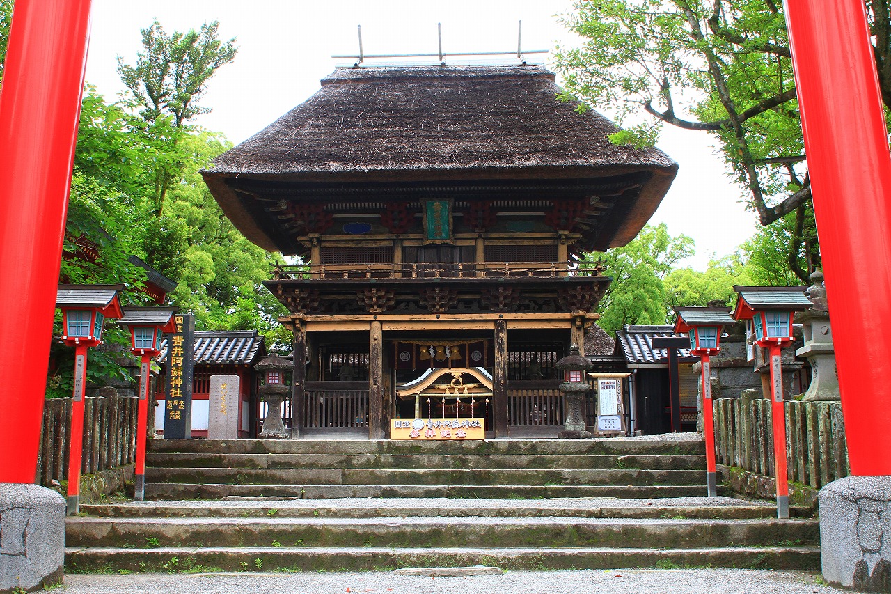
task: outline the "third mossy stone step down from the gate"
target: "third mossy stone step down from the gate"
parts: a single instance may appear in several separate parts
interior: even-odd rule
[[[448,485],[691,485],[701,470],[387,469],[387,468],[146,468],[147,483],[448,484]]]

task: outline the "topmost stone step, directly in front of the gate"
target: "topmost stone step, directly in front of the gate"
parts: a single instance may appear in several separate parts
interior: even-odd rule
[[[705,454],[695,433],[672,439],[614,438],[594,440],[369,441],[369,440],[149,440],[152,453],[200,454],[512,454],[658,456]]]

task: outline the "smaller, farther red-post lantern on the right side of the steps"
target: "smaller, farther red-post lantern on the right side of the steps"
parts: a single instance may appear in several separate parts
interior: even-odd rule
[[[687,333],[691,354],[699,357],[702,367],[702,424],[706,438],[706,484],[708,497],[717,497],[715,475],[715,421],[712,408],[711,369],[708,358],[721,351],[723,327],[736,320],[730,308],[674,308],[677,319],[674,332]]]

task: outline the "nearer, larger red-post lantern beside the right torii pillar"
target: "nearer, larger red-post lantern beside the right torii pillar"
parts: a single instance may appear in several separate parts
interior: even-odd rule
[[[770,351],[773,458],[777,483],[777,517],[789,517],[789,477],[786,461],[786,411],[782,396],[781,349],[795,339],[792,313],[811,307],[805,286],[740,286],[733,318],[752,321],[755,343]]]

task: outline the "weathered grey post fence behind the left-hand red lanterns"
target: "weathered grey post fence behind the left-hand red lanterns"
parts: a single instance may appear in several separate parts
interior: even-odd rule
[[[46,400],[40,432],[35,483],[48,486],[68,479],[71,399]],[[135,397],[88,397],[84,400],[84,450],[81,473],[96,473],[136,459]]]

